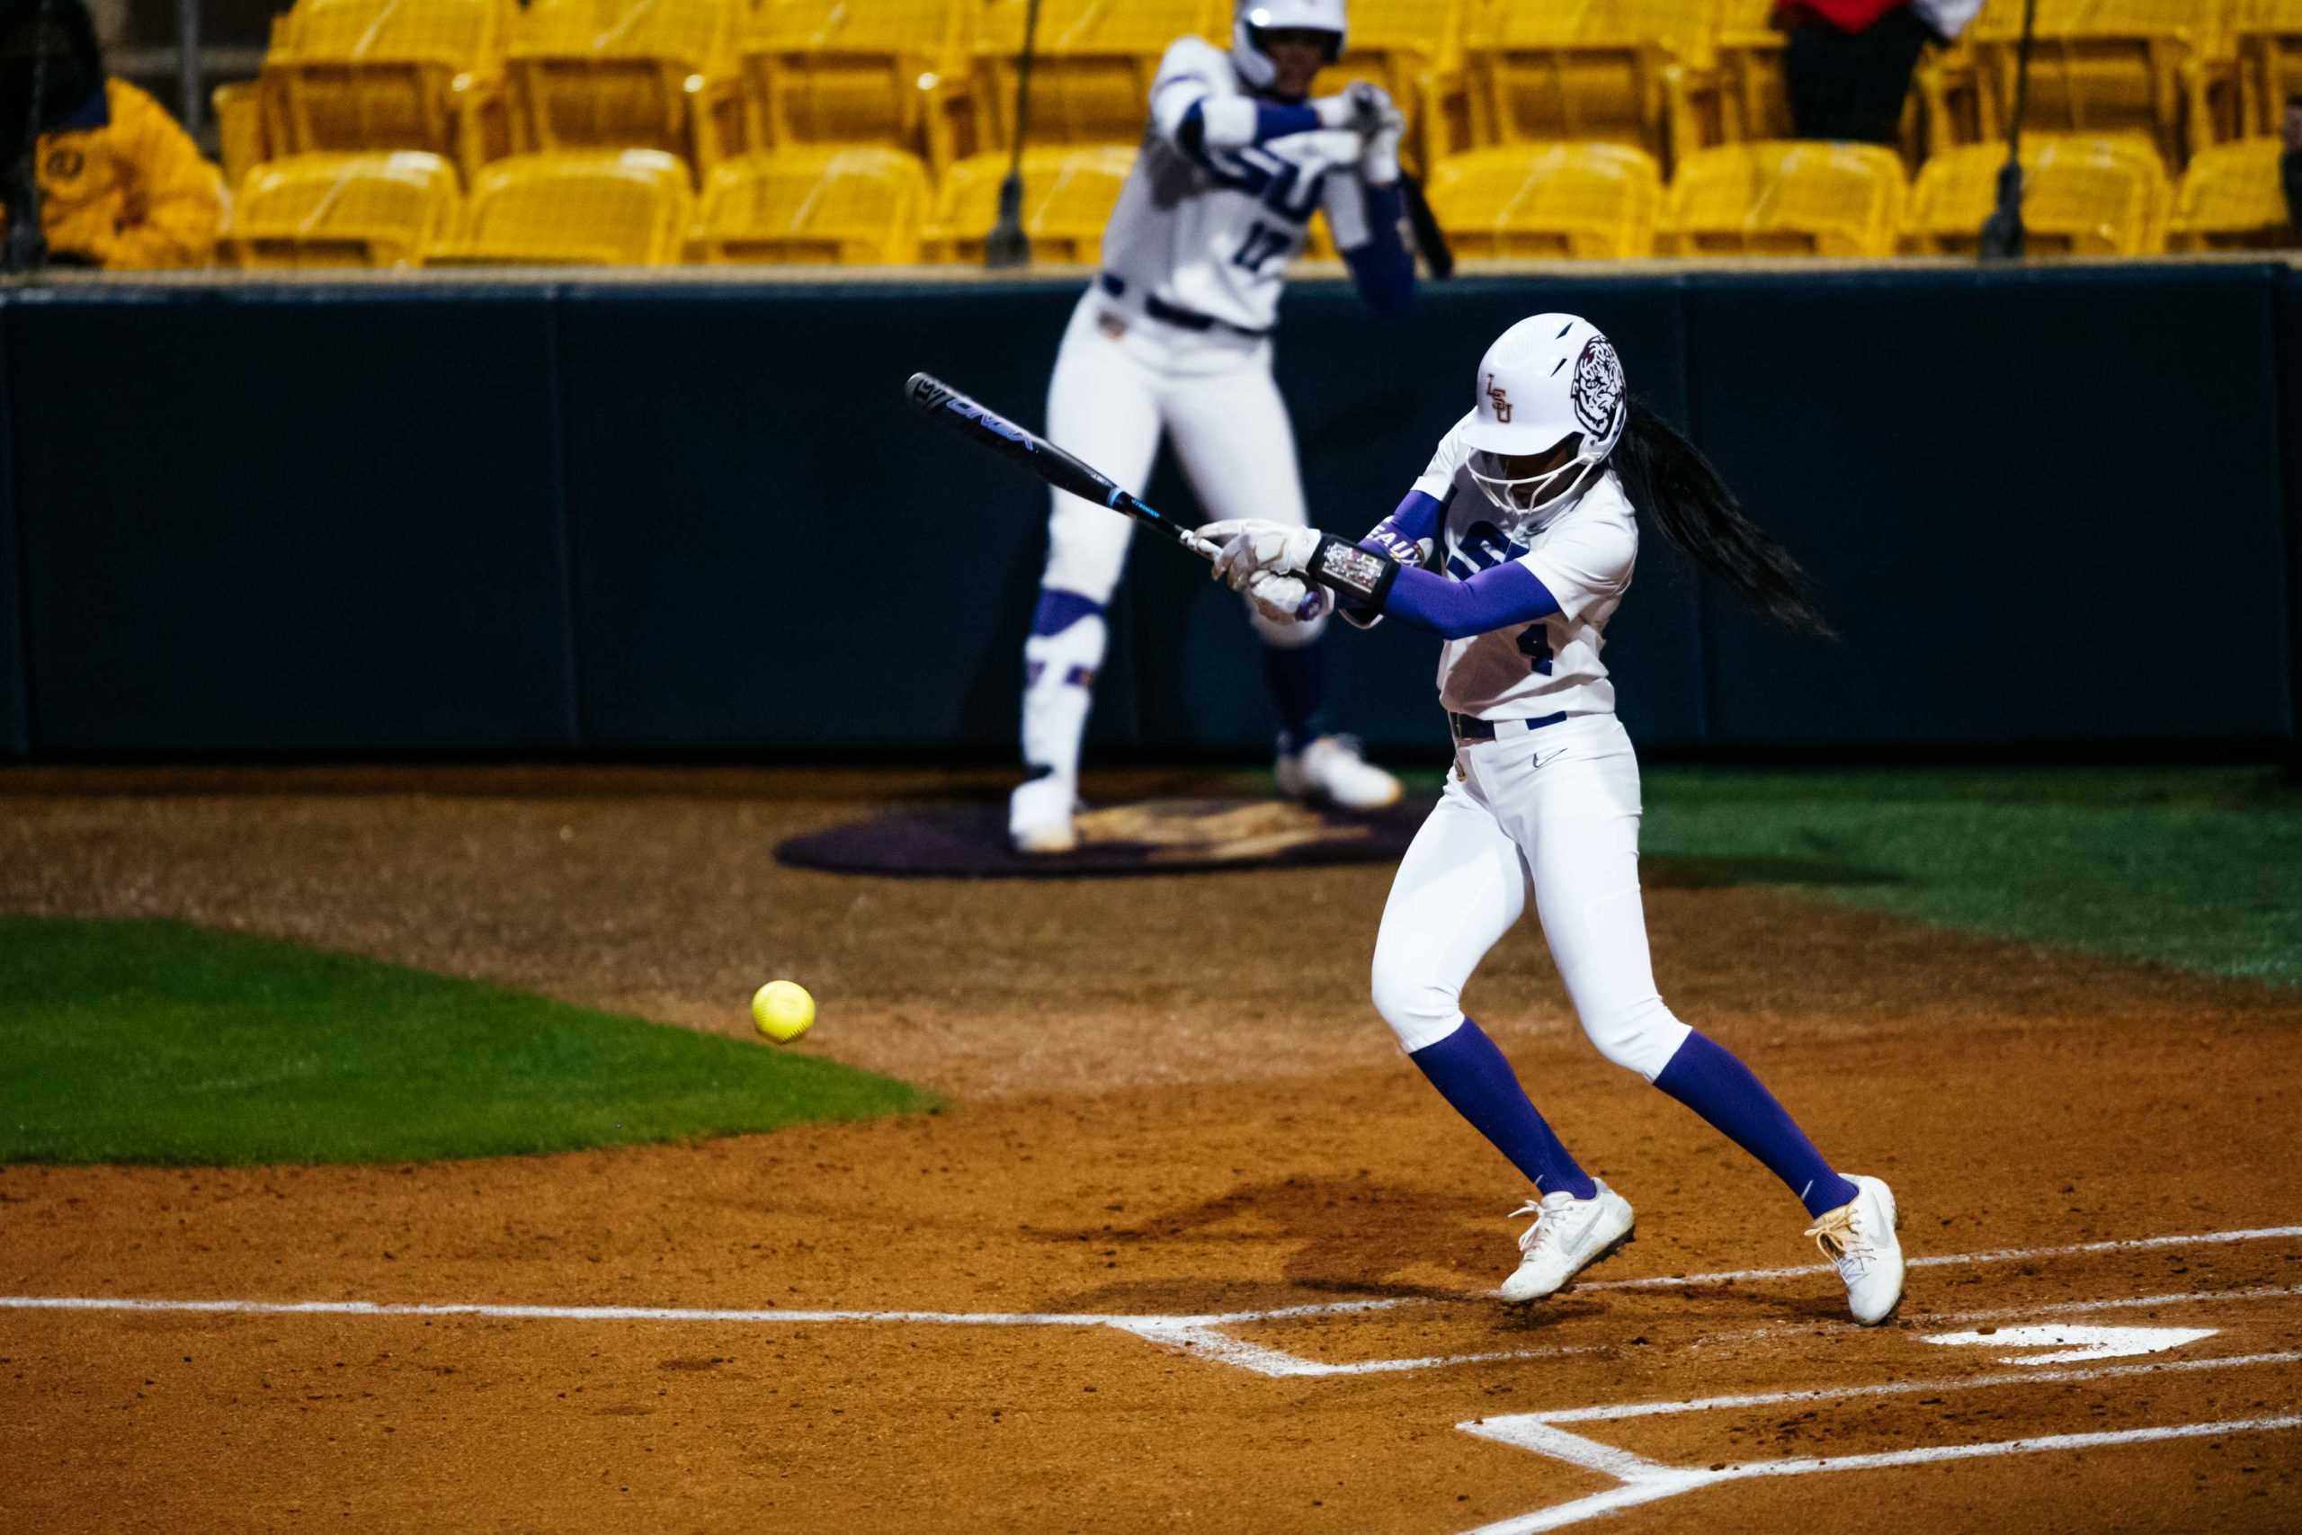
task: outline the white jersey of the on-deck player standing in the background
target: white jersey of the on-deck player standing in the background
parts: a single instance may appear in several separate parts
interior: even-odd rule
[[[1335,244],[1365,244],[1367,207],[1356,133],[1294,133],[1243,150],[1186,154],[1176,133],[1192,104],[1248,94],[1222,48],[1183,37],[1151,83],[1142,154],[1103,228],[1110,299],[1135,315],[1149,301],[1245,331],[1278,322],[1287,262],[1321,207]],[[1156,311],[1149,311],[1156,313]]]

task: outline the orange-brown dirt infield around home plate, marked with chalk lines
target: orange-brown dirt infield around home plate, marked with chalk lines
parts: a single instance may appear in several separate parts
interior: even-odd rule
[[[771,861],[928,778],[258,787],[9,776],[0,909],[721,1031],[792,973],[810,1049],[953,1107],[548,1160],[0,1169],[0,1528],[2302,1521],[2290,992],[1653,868],[1664,994],[1895,1181],[1922,1266],[1899,1323],[1846,1323],[1796,1204],[1598,1061],[1526,930],[1471,1008],[1639,1240],[1503,1312],[1515,1178],[1365,1003],[1388,870]]]

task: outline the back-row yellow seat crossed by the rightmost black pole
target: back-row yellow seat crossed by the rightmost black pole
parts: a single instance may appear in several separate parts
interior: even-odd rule
[[[1982,136],[2005,143],[2023,7],[2000,0],[1973,25]],[[2212,138],[2208,55],[2215,0],[2040,0],[2030,51],[2030,133],[2148,133],[2180,163]]]

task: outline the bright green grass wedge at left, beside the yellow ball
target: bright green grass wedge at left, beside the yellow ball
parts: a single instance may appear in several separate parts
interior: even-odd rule
[[[403,1162],[932,1107],[764,1043],[186,927],[0,916],[0,1162]]]

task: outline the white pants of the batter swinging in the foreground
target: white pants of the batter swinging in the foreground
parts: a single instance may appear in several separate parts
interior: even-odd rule
[[[1411,1054],[1462,1026],[1462,987],[1526,911],[1600,1054],[1653,1082],[1685,1043],[1639,902],[1639,757],[1611,713],[1471,741],[1390,881],[1374,1008]]]

